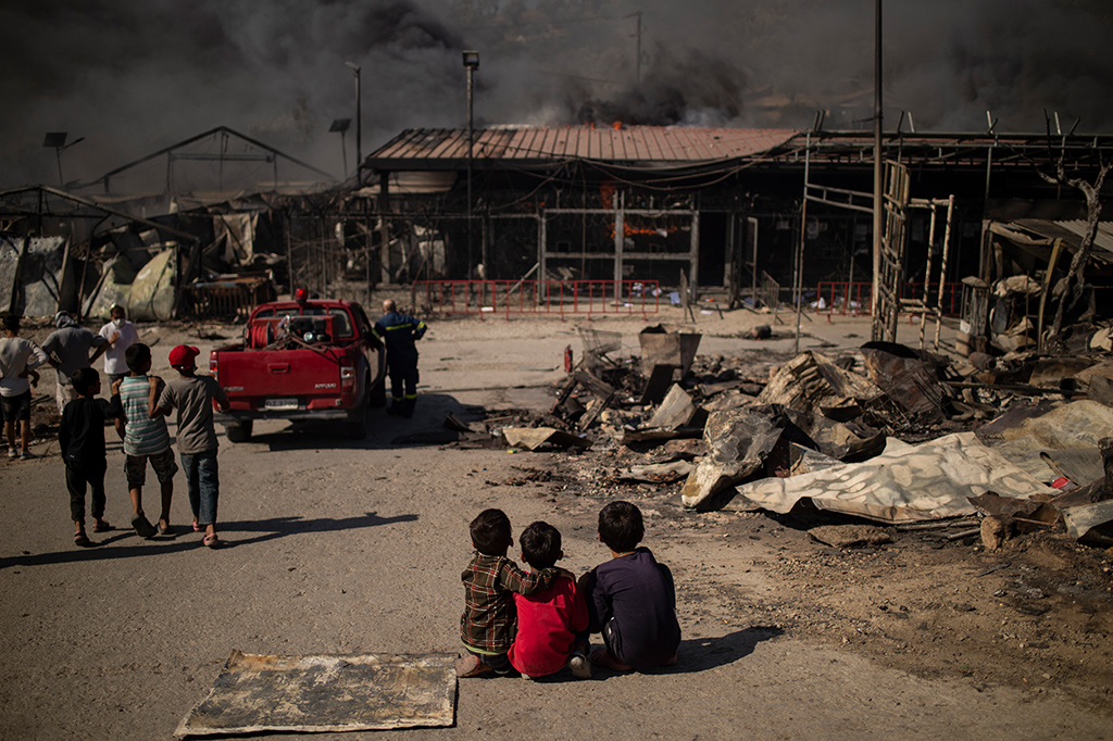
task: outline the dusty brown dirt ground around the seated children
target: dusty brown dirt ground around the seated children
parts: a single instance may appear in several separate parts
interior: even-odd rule
[[[597,669],[590,682],[465,680],[454,728],[392,734],[1113,738],[1106,551],[1050,532],[989,554],[978,539],[946,540],[955,531],[896,528],[887,528],[889,543],[839,550],[807,531],[848,521],[696,513],[680,506],[679,483],[617,482],[610,474],[632,456],[622,448],[398,442],[440,429],[447,413],[474,421],[548,408],[564,347],[580,353],[579,327],[620,332],[619,355],[637,355],[647,323],[683,318],[677,309],[648,322],[432,317],[413,419],[380,415],[359,442],[282,422],[259,425],[250,443],[221,437],[227,546],[215,552],[185,531],[142,541],[124,527],[118,442],[109,444],[107,513],[117,527],[96,536],[97,547],[72,546],[45,379],[32,445],[41,457],[0,461],[0,738],[169,738],[234,649],[456,652],[459,574],[475,513],[500,506],[515,533],[551,522],[564,535],[562,565],[580,573],[605,557],[595,516],[614,498],[641,506],[646,544],[673,570],[684,634],[678,666]],[[772,339],[745,338],[769,323]],[[795,353],[795,323],[709,310],[695,329],[700,355],[759,352],[775,363]],[[207,354],[238,332],[140,329],[155,345],[156,373],[168,372],[175,344]],[[805,318],[801,329],[800,349],[851,347],[869,335],[867,320],[838,316]],[[41,340],[48,332],[26,334]],[[900,332],[918,344],[918,324]],[[952,337],[945,327],[945,345]],[[176,483],[176,524],[188,523],[180,475]]]

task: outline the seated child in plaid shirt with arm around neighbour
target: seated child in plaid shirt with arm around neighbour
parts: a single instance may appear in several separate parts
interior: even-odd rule
[[[559,571],[543,569],[525,573],[506,557],[514,544],[510,518],[502,510],[484,510],[471,523],[475,555],[461,574],[464,613],[460,636],[467,655],[456,662],[456,675],[479,676],[490,671],[509,674],[510,651],[516,613],[511,594],[535,594],[552,585]]]

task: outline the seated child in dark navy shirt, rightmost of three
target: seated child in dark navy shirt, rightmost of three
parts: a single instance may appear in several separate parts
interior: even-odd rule
[[[602,633],[605,648],[591,660],[614,671],[668,666],[677,662],[677,622],[672,572],[638,547],[646,534],[641,510],[611,502],[599,512],[599,540],[611,560],[583,575],[588,630]],[[585,648],[585,646],[584,646]]]

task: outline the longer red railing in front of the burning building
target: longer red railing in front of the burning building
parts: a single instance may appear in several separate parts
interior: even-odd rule
[[[657,280],[418,280],[415,303],[442,314],[657,314]]]

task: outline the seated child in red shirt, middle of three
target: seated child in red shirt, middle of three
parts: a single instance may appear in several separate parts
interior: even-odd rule
[[[522,532],[522,560],[538,572],[564,557],[560,531],[546,522],[535,522]],[[588,626],[588,606],[575,582],[558,579],[549,589],[525,596],[514,595],[518,635],[510,646],[510,663],[526,676],[560,671],[568,664],[572,674],[591,679],[591,665],[575,651],[575,633]]]

